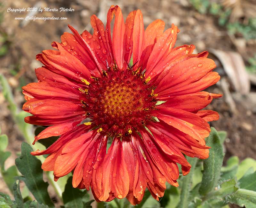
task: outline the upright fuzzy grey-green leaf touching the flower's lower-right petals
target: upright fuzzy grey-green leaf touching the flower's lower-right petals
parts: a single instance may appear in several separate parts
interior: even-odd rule
[[[210,146],[211,149],[209,158],[204,160],[203,179],[199,189],[199,193],[203,196],[217,186],[224,157],[220,137],[214,128],[211,128],[211,133],[206,139],[206,145]]]

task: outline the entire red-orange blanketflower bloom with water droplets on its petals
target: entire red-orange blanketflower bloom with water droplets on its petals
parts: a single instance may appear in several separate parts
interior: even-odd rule
[[[177,26],[164,31],[157,19],[144,30],[140,10],[124,23],[121,9],[111,6],[106,28],[95,15],[91,24],[93,34],[69,26],[73,34],[52,42],[57,50],[36,56],[44,66],[35,70],[38,82],[22,88],[23,109],[33,114],[25,121],[49,126],[34,143],[60,137],[31,154],[50,154],[42,168],[55,181],[74,171],[73,186],[91,187],[97,201],[126,197],[138,204],[146,188],[158,200],[165,182],[178,186],[177,163],[188,174],[183,154],[208,157],[207,122],[219,115],[201,109],[221,95],[203,90],[220,76],[207,51],[174,47]]]

